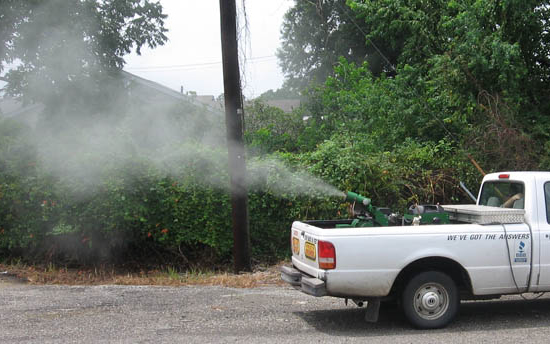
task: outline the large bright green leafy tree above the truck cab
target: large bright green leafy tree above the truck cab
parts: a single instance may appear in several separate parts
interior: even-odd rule
[[[469,128],[459,133],[464,142],[491,164],[533,167],[533,149],[543,146],[534,142],[550,139],[547,0],[349,4],[373,28],[368,38],[404,38],[398,71],[429,104],[432,128],[460,123]]]

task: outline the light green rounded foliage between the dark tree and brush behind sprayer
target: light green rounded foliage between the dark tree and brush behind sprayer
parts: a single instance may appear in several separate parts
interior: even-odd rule
[[[410,87],[414,71],[407,69],[395,78],[375,78],[366,64],[357,67],[345,60],[335,67],[323,87],[310,92],[307,105],[316,125],[330,135],[333,131],[369,134],[377,146],[392,149],[407,138],[438,142],[452,130],[464,129],[463,112],[453,117],[447,107],[427,99],[416,82]],[[446,123],[444,123],[446,122]]]

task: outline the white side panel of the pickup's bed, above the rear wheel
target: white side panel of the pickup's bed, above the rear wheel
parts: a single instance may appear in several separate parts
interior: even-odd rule
[[[329,241],[336,248],[337,262],[336,269],[325,271],[301,253],[293,255],[293,263],[325,280],[327,291],[334,296],[385,296],[403,268],[426,257],[444,257],[462,265],[476,295],[515,293],[510,261],[518,287],[525,288],[532,249],[530,230],[526,224],[505,226],[508,240],[502,225],[321,229],[295,222],[293,235],[304,234],[301,252],[304,238]],[[519,253],[521,259],[516,260]]]

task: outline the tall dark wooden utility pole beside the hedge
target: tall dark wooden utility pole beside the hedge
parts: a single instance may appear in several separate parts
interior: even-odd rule
[[[237,49],[235,0],[220,0],[225,126],[231,183],[233,260],[235,272],[251,271],[248,234],[248,190],[243,143],[243,104]]]

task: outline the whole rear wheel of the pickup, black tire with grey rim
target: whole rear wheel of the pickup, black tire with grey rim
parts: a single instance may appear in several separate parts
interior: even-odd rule
[[[401,304],[405,317],[413,326],[441,328],[458,313],[460,297],[452,278],[439,271],[426,271],[409,280]]]

